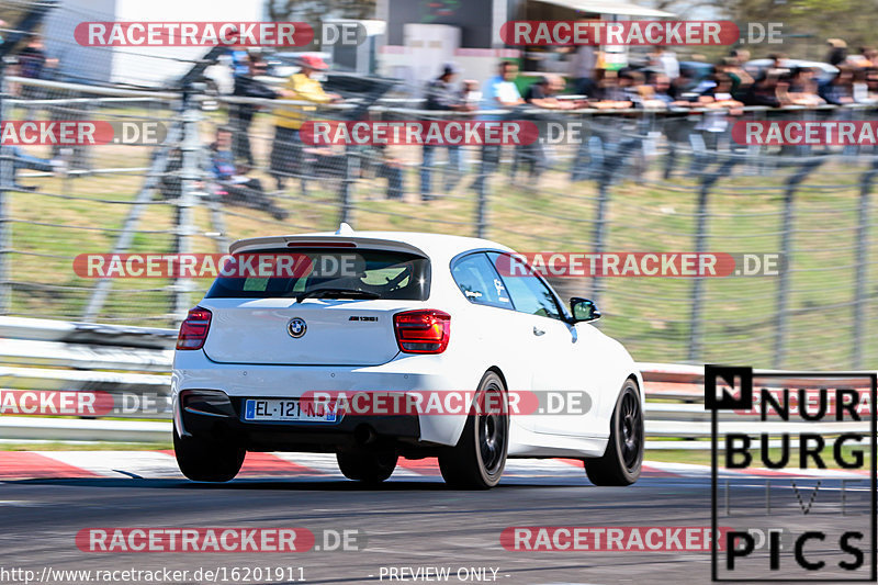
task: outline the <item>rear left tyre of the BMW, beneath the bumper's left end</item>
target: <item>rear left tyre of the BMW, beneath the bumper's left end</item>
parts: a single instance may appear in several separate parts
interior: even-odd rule
[[[183,475],[193,482],[227,482],[235,479],[247,451],[227,442],[180,437],[173,429],[173,454]]]

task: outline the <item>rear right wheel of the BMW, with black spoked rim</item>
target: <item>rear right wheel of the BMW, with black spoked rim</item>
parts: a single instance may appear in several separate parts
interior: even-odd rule
[[[503,381],[495,372],[486,372],[479,383],[477,404],[485,404],[485,396],[493,396],[488,404],[503,407],[470,414],[458,445],[439,455],[439,470],[452,487],[488,490],[503,476],[509,445],[509,412]],[[494,402],[497,398],[502,402]]]

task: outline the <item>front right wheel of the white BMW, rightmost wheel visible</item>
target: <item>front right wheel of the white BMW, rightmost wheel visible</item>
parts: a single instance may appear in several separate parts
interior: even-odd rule
[[[631,485],[643,464],[643,408],[633,381],[627,380],[610,418],[604,457],[585,460],[585,473],[595,485]]]

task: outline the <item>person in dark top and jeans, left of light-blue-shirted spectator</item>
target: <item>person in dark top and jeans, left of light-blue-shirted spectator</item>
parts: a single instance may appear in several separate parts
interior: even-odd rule
[[[442,67],[442,74],[427,85],[426,101],[424,104],[425,110],[430,111],[466,111],[473,110],[472,105],[468,105],[463,101],[462,94],[454,89],[453,81],[458,75],[458,68],[454,64],[446,64]],[[441,120],[449,120],[442,117]],[[439,148],[436,145],[425,144],[423,149],[423,159],[420,165],[420,200],[430,201],[434,199],[432,193],[432,168],[436,162],[436,150]],[[454,184],[460,180],[463,173],[461,162],[461,150],[459,145],[448,146],[448,166],[449,171],[446,173],[446,192],[451,191]]]

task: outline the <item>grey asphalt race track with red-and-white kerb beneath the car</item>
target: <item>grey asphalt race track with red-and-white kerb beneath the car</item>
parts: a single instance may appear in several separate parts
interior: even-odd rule
[[[450,567],[449,583],[477,582],[459,580],[454,573],[461,567],[485,569],[488,582],[493,567],[497,571],[496,582],[509,584],[710,581],[709,552],[508,551],[499,541],[500,532],[510,526],[709,527],[710,477],[706,468],[695,465],[671,465],[675,471],[649,466],[635,485],[609,488],[589,484],[583,470],[571,462],[513,461],[508,476],[497,488],[458,492],[444,487],[431,461],[406,462],[387,483],[373,490],[340,479],[329,471],[329,460],[316,455],[304,455],[314,458],[311,468],[290,463],[297,469],[273,464],[273,459],[283,461],[275,455],[261,455],[246,464],[249,468],[245,466],[241,479],[207,485],[182,480],[179,472],[164,463],[156,464],[165,461],[165,453],[132,454],[144,460],[131,465],[137,471],[119,464],[121,452],[50,454],[79,458],[92,471],[86,468],[80,474],[83,476],[64,477],[59,475],[76,475],[71,471],[76,468],[65,471],[64,464],[58,463],[58,469],[44,465],[43,477],[41,470],[35,470],[30,473],[34,479],[0,482],[4,565],[11,561],[37,575],[44,567],[194,571],[301,566],[307,583],[412,583],[410,574],[405,581],[392,581],[387,571],[436,566]],[[10,455],[0,453],[0,458]],[[20,470],[30,455],[18,455]],[[15,461],[11,463],[5,468],[13,470]],[[100,472],[102,465],[106,472]],[[317,469],[320,466],[325,471]],[[18,473],[25,475],[23,471]],[[735,506],[751,509],[756,518],[762,514],[764,477],[742,475],[736,482]],[[831,482],[824,480],[824,485]],[[837,522],[834,514],[838,495],[826,494],[832,494],[831,487],[815,498],[810,517],[795,509],[795,498],[775,496],[773,518],[797,526]],[[856,507],[857,494],[848,494],[848,506]],[[823,516],[819,515],[821,506],[825,507]],[[735,514],[746,517],[746,513]],[[779,520],[786,515],[786,520]],[[77,548],[77,532],[90,527],[303,527],[315,533],[353,529],[365,532],[367,539],[361,551],[111,554]],[[817,547],[814,551],[824,552],[828,562],[841,558],[828,547]],[[766,556],[754,555],[763,562]],[[425,582],[429,581],[418,581]]]

